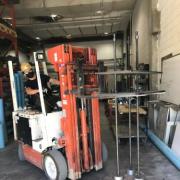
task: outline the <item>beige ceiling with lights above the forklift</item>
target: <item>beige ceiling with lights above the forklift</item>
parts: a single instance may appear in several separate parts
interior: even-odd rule
[[[15,5],[17,29],[41,40],[106,36],[126,29],[134,4],[135,0],[20,0]]]

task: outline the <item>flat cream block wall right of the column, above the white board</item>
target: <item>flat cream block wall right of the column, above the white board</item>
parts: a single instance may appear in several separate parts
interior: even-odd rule
[[[169,53],[180,53],[180,0],[159,0],[161,33],[159,58]]]

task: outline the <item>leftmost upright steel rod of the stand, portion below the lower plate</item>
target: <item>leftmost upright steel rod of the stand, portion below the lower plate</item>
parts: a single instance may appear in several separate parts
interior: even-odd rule
[[[118,142],[118,107],[117,107],[117,98],[115,98],[115,123],[116,123],[116,158],[117,158],[117,176],[120,175],[119,171],[119,142]]]

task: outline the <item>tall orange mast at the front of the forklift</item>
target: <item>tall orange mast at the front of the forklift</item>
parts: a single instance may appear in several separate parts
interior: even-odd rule
[[[65,148],[69,178],[79,179],[82,172],[102,168],[99,100],[83,98],[98,90],[96,50],[59,45],[47,54],[60,80],[64,117],[58,143]]]

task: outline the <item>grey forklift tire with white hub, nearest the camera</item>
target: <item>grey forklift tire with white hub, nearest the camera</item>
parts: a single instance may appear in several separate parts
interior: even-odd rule
[[[44,172],[50,180],[65,180],[67,178],[67,163],[61,152],[48,151],[43,160]]]

